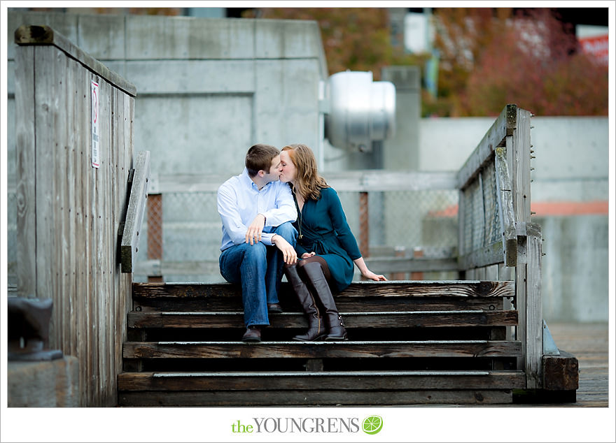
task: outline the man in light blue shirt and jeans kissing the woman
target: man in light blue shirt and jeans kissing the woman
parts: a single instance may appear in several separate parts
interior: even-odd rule
[[[219,264],[228,282],[241,283],[244,342],[260,342],[269,325],[267,312],[282,312],[278,289],[283,263],[297,261],[297,218],[288,184],[279,181],[280,152],[253,145],[244,172],[218,188],[218,214],[223,222]]]

